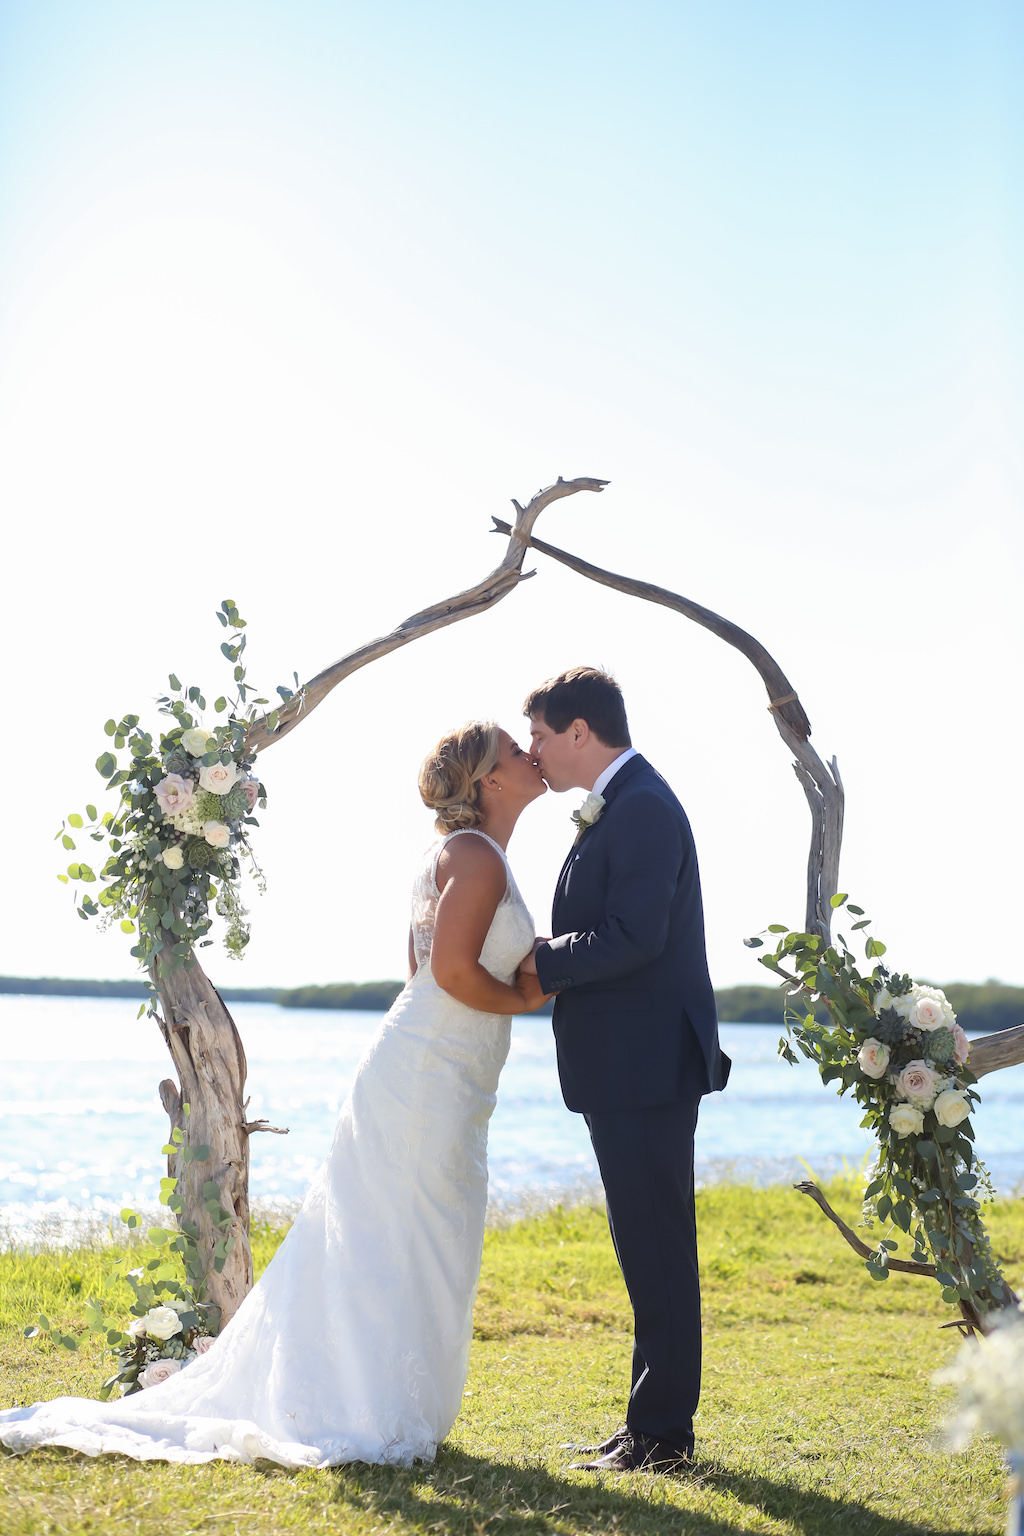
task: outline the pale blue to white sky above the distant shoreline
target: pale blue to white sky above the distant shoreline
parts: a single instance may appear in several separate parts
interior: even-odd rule
[[[3,969],[129,972],[49,837],[111,713],[216,677],[223,596],[310,674],[582,473],[539,533],[775,651],[894,958],[1024,982],[1022,45],[986,3],[5,6],[5,691],[46,746],[5,754]],[[419,757],[588,657],[691,813],[715,982],[758,980],[806,846],[760,684],[551,568],[267,756],[230,980],[396,974]],[[570,809],[511,848],[540,926]]]

